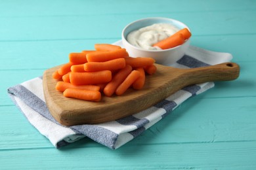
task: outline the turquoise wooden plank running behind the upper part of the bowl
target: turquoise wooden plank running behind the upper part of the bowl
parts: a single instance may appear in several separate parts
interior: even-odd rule
[[[69,39],[106,39],[121,37],[125,25],[150,16],[169,17],[184,22],[192,35],[255,34],[255,10],[210,11],[186,13],[150,13],[94,16],[51,16],[28,18],[0,18],[1,41],[47,41]],[[191,20],[190,18],[193,18]],[[100,22],[99,22],[100,21]],[[118,24],[110,24],[117,23]],[[33,23],[33,24],[32,24]],[[239,24],[238,24],[239,23]],[[18,31],[16,25],[19,25]],[[77,26],[76,26],[77,25]],[[79,25],[79,26],[78,26]],[[234,27],[236,25],[236,27]],[[104,27],[104,29],[102,29]]]

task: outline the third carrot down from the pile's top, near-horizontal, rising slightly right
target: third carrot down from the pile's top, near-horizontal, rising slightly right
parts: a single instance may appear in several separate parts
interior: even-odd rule
[[[104,62],[88,62],[84,64],[85,71],[118,70],[125,67],[125,59],[117,58]]]

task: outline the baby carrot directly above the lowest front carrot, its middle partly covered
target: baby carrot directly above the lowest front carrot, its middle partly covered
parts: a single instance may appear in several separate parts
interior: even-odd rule
[[[83,86],[75,86],[74,84],[71,84],[70,82],[57,82],[55,86],[56,90],[60,92],[64,92],[68,88],[77,88],[82,90],[93,90],[93,91],[100,91],[100,86],[95,85],[83,85]]]

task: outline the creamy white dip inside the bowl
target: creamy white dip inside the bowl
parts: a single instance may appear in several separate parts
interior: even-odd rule
[[[130,44],[145,50],[161,50],[160,48],[152,45],[170,37],[177,31],[179,31],[179,28],[171,24],[153,24],[132,31],[127,35],[127,41]]]

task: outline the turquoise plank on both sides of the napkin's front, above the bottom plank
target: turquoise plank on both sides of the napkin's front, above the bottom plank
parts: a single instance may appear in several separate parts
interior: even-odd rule
[[[242,100],[242,101],[241,101]],[[142,135],[125,144],[140,145],[186,143],[234,143],[256,141],[253,119],[255,97],[188,99],[171,114]],[[51,148],[52,144],[36,131],[14,106],[1,106],[0,151],[6,149]],[[6,141],[9,141],[6,143]],[[98,147],[85,139],[71,144],[74,148]],[[123,146],[123,147],[125,147]],[[102,146],[103,147],[103,146]],[[118,149],[119,150],[119,149]]]

